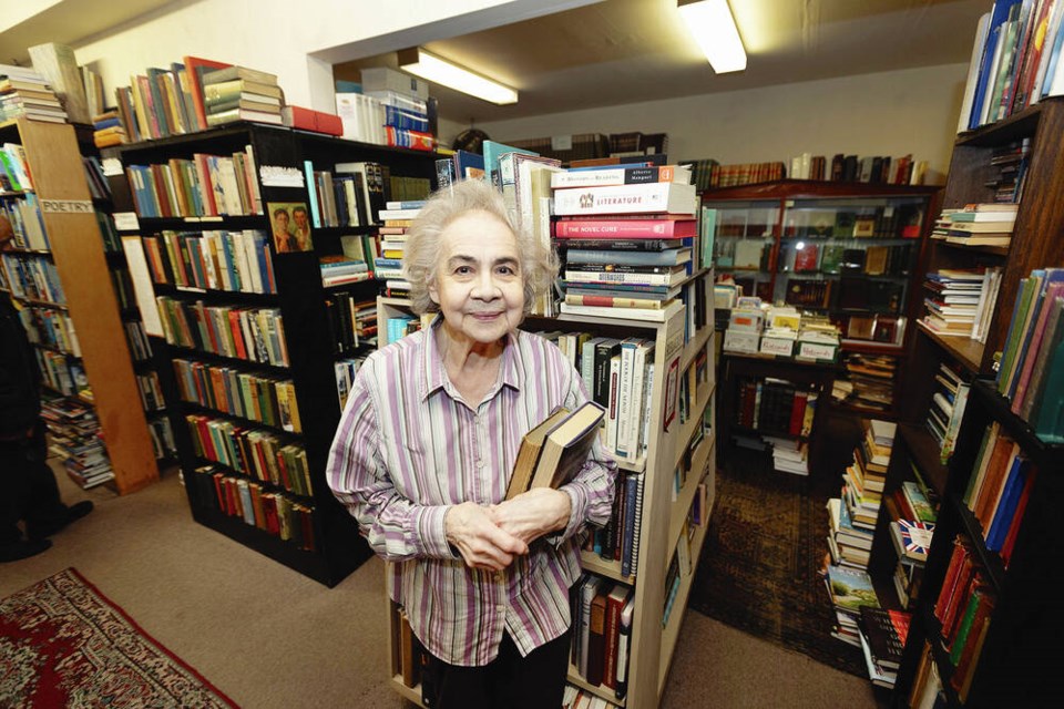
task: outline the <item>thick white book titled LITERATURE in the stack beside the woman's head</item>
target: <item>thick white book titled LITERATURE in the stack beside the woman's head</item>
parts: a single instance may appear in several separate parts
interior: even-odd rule
[[[698,201],[694,185],[674,182],[645,185],[581,187],[554,192],[554,214],[694,214]]]

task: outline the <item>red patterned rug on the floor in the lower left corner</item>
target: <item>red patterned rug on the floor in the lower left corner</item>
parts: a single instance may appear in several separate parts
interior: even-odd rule
[[[236,707],[73,568],[0,600],[0,707]]]

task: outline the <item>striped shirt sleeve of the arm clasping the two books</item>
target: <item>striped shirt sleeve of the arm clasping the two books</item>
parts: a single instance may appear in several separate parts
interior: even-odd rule
[[[570,368],[572,368],[570,366]],[[587,401],[582,380],[572,370],[571,386],[565,397],[565,405],[571,411]],[[605,526],[613,514],[614,484],[617,477],[617,463],[606,452],[601,438],[595,438],[591,455],[576,476],[560,490],[569,495],[569,524],[564,530],[544,538],[557,546],[583,531],[587,524]]]

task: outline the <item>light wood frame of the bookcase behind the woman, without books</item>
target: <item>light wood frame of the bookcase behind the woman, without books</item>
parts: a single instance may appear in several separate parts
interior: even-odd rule
[[[695,281],[702,281],[702,285],[695,288]],[[618,463],[622,471],[641,472],[645,476],[637,573],[635,576],[623,576],[620,562],[605,562],[589,551],[583,552],[582,561],[585,572],[634,588],[627,693],[624,699],[617,699],[612,689],[589,685],[573,666],[569,671],[571,685],[620,707],[656,707],[661,700],[716,491],[713,269],[696,271],[688,284],[693,292],[699,294],[697,297],[703,299],[698,307],[702,316],[690,323],[687,321],[688,312],[682,310],[662,323],[560,316],[529,318],[522,326],[529,331],[593,332],[616,338],[637,336],[655,343],[647,453],[634,464]],[[388,318],[409,314],[405,301],[393,298],[378,299],[378,308],[381,333],[387,331]],[[380,345],[386,343],[387,339],[381,337]],[[700,378],[695,376],[696,370],[703,372]],[[681,387],[679,382],[685,378],[693,386]],[[687,397],[686,402],[682,402],[681,397]],[[678,414],[682,407],[685,408],[686,418]],[[675,472],[678,467],[688,472],[677,491]],[[705,485],[706,491],[706,499],[699,501],[704,505],[702,524],[690,528],[689,536],[684,537],[687,531],[685,522],[696,502],[699,485]],[[678,545],[688,544],[688,540],[693,565],[689,573],[681,574],[672,599],[673,610],[667,621],[663,623],[664,609],[669,600],[669,589],[665,583],[668,566]],[[423,706],[420,688],[409,687],[402,680],[400,627],[391,600],[388,600],[388,613],[391,619],[388,653],[391,684],[402,697]]]

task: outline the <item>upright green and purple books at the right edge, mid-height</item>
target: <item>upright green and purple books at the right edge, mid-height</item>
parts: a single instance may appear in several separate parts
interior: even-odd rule
[[[1020,280],[998,368],[998,391],[1043,441],[1064,442],[1064,269],[1036,269]]]

